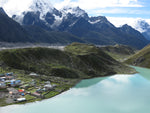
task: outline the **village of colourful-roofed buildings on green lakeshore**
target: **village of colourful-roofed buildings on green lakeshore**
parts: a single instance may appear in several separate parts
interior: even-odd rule
[[[0,74],[0,99],[6,104],[33,102],[53,97],[64,91],[59,84],[50,81],[39,81],[36,73],[30,73],[24,80],[13,72]]]

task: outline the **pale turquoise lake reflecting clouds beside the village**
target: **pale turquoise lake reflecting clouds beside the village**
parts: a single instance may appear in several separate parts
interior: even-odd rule
[[[0,113],[149,113],[150,69],[83,80],[51,99],[0,107]]]

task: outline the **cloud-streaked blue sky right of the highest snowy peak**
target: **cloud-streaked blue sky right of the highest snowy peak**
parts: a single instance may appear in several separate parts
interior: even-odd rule
[[[65,5],[79,6],[90,16],[150,19],[149,0],[50,0],[58,9]]]

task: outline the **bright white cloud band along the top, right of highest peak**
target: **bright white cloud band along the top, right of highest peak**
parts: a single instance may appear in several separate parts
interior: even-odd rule
[[[52,0],[53,1],[53,0]],[[106,7],[143,7],[138,0],[56,0],[55,7],[60,9],[64,5],[76,5],[85,10]]]

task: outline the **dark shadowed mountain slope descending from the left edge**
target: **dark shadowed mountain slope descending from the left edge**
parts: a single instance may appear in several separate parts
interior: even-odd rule
[[[27,32],[14,20],[9,18],[4,10],[0,11],[0,41],[1,42],[32,42]]]

